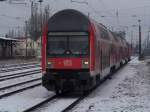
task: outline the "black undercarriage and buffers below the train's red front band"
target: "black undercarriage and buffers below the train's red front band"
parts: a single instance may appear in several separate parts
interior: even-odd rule
[[[42,85],[56,94],[64,91],[86,92],[95,85],[95,78],[85,70],[49,70],[42,77]]]

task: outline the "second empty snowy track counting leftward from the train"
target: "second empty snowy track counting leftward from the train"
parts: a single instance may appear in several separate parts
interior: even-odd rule
[[[41,72],[41,69],[34,70],[34,71],[15,73],[15,74],[10,74],[10,75],[4,75],[4,76],[0,76],[0,81],[10,80],[10,79],[24,77],[24,76],[29,76],[29,75],[40,73],[40,72]]]

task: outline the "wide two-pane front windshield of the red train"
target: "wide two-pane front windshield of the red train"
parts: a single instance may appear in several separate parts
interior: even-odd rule
[[[48,56],[87,56],[88,35],[51,35],[47,43]]]

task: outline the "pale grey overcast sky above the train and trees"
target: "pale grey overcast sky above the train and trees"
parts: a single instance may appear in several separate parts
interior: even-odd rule
[[[24,0],[25,5],[10,5],[0,3],[0,32],[6,33],[11,28],[22,26],[30,16],[30,0]],[[38,1],[38,0],[35,0]],[[87,4],[71,3],[71,0],[44,0],[43,5],[50,4],[52,13],[65,8],[82,11],[86,15],[111,29],[124,29],[127,31],[127,39],[130,39],[133,31],[134,39],[138,37],[138,19],[142,20],[142,37],[148,34],[150,26],[150,0],[75,0],[86,1]],[[118,16],[117,16],[118,15]],[[9,17],[10,16],[10,17]],[[14,17],[14,18],[13,18]],[[21,17],[16,19],[15,17]]]

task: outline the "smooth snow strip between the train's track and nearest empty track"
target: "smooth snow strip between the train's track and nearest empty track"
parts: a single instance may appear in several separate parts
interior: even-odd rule
[[[48,92],[42,86],[35,87],[0,99],[0,112],[22,112],[53,95],[53,92]]]

